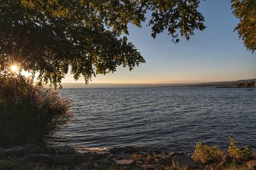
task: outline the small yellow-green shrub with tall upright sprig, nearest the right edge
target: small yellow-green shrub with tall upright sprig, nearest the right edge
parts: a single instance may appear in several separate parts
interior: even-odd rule
[[[241,163],[245,160],[248,160],[251,156],[251,151],[249,146],[243,146],[242,148],[238,148],[236,145],[238,144],[233,138],[230,138],[230,144],[228,146],[228,153],[232,158],[233,162]]]

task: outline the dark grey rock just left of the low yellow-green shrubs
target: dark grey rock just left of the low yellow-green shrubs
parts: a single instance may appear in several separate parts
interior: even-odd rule
[[[188,167],[188,168],[193,168],[195,167],[195,162],[191,157],[186,157],[183,155],[175,155],[172,159],[172,164],[173,166],[178,166],[178,167]]]

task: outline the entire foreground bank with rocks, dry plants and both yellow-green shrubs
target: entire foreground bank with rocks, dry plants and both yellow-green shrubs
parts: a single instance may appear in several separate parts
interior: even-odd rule
[[[44,154],[42,154],[44,153]],[[0,169],[212,169],[253,170],[256,152],[248,146],[239,148],[230,138],[227,151],[216,146],[197,143],[193,155],[159,152],[148,148],[126,146],[113,148],[107,153],[81,153],[70,146],[57,148],[37,146],[0,147]]]

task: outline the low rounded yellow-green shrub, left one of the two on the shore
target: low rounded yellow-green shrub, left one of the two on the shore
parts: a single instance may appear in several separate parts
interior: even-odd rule
[[[196,143],[195,152],[192,155],[192,159],[198,164],[207,165],[221,162],[223,156],[224,152],[219,150],[216,146]]]

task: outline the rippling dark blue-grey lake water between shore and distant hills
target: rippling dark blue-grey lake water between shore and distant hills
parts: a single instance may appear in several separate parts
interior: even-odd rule
[[[256,149],[256,90],[214,87],[62,89],[72,122],[54,145],[150,146],[192,153],[198,141],[227,149],[233,136]]]

